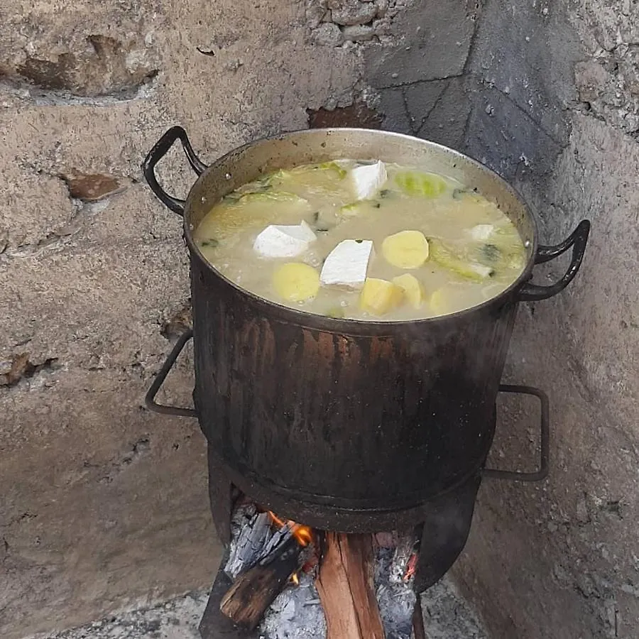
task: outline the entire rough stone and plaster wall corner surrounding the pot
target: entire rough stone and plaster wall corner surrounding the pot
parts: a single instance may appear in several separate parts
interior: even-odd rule
[[[180,220],[141,183],[148,148],[175,123],[212,160],[274,131],[383,120],[498,170],[543,241],[594,223],[577,280],[522,305],[506,371],[550,393],[551,478],[485,482],[454,575],[495,638],[634,638],[637,4],[8,4],[0,634],[204,585],[217,564],[197,426],[142,406],[188,321]],[[160,175],[178,194],[193,179],[178,151]],[[189,403],[190,364],[165,400]],[[491,463],[533,463],[535,418],[501,405]]]

